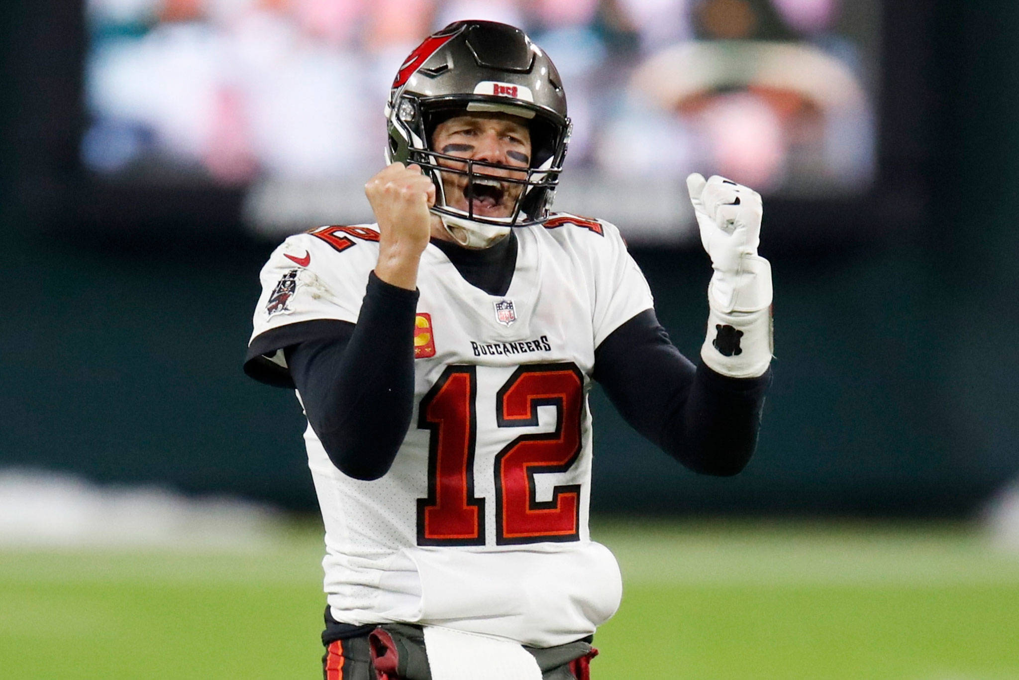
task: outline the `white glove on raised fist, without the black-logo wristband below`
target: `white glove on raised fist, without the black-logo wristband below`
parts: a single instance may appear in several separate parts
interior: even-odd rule
[[[731,179],[712,175],[687,177],[701,244],[711,258],[714,275],[708,302],[719,312],[755,312],[771,304],[771,266],[757,255],[760,243],[760,194]]]

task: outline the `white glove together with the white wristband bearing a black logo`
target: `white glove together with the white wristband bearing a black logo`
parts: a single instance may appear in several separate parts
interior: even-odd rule
[[[771,362],[771,265],[757,255],[760,195],[731,179],[687,177],[701,244],[711,258],[704,363],[717,373],[762,375]]]

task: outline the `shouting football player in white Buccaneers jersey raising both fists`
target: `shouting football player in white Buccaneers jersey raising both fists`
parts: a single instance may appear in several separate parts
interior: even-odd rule
[[[771,358],[760,197],[688,179],[714,268],[694,365],[619,230],[550,211],[570,119],[523,32],[429,37],[386,116],[376,223],[276,249],[245,366],[308,418],[326,678],[586,678],[622,593],[588,532],[588,390],[697,472],[746,465]]]

